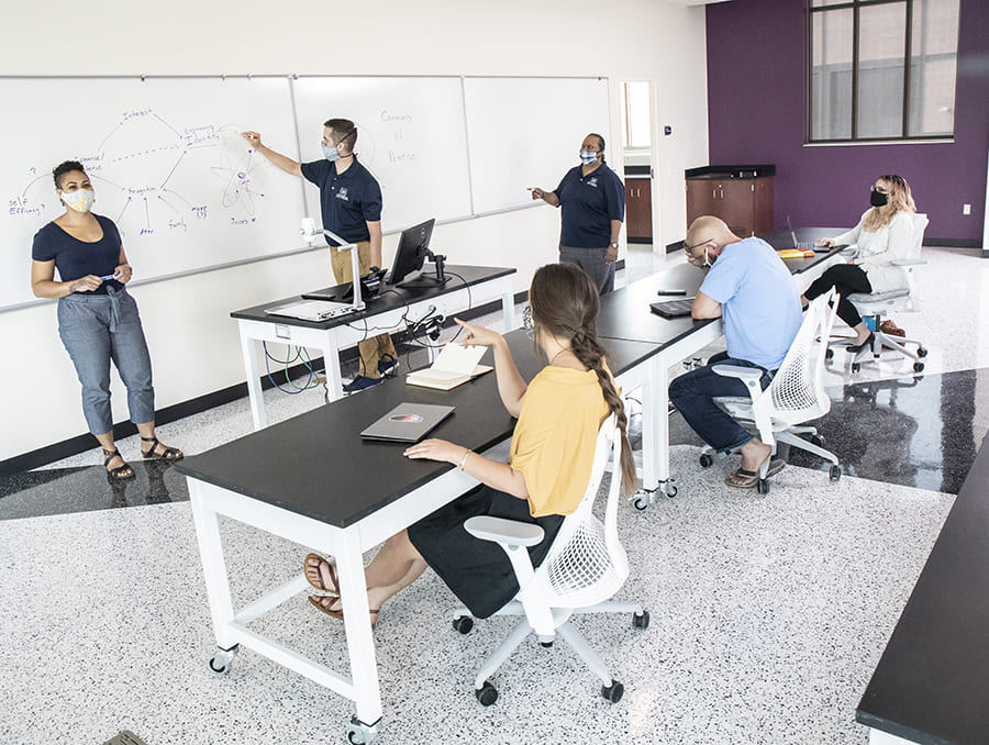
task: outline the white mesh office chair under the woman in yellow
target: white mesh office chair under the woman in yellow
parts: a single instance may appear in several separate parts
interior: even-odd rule
[[[526,546],[543,538],[543,529],[501,518],[471,518],[466,529],[477,538],[498,543],[508,554],[519,580],[515,599],[497,615],[522,615],[481,666],[474,682],[475,696],[489,707],[498,700],[498,691],[488,678],[507,660],[530,632],[535,632],[543,646],[552,646],[557,634],[566,640],[591,671],[601,679],[601,696],[618,702],[624,687],[611,677],[603,660],[570,623],[574,613],[633,613],[632,625],[646,629],[649,614],[633,602],[608,602],[629,576],[629,560],[618,537],[618,505],[621,491],[622,441],[614,414],[598,432],[594,462],[587,491],[579,507],[564,519],[549,553],[537,569],[533,569]],[[604,522],[594,516],[597,498],[605,464],[613,458],[613,475],[608,490]],[[454,611],[454,629],[466,634],[474,626],[466,608]]]

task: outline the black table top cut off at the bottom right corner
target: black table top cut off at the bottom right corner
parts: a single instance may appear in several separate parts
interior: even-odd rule
[[[918,743],[989,742],[987,535],[989,437],[862,697],[858,722]]]

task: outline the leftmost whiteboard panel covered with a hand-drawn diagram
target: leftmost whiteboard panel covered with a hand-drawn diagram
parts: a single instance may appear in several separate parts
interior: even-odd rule
[[[295,142],[287,78],[7,78],[0,100],[0,307],[33,299],[32,240],[64,211],[63,160],[85,165],[135,279],[302,245],[298,185],[238,135]]]

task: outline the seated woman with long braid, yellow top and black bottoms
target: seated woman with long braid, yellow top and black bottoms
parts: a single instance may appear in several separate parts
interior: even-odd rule
[[[529,289],[525,327],[547,360],[527,386],[501,334],[457,321],[463,344],[494,351],[498,392],[518,416],[509,463],[491,460],[462,445],[426,440],[409,447],[409,458],[452,463],[481,485],[392,536],[365,569],[371,625],[386,600],[433,567],[454,594],[478,618],[491,615],[519,591],[501,547],[471,536],[464,523],[494,515],[540,525],[545,536],[529,548],[538,566],[563,523],[587,489],[598,430],[616,414],[622,430],[621,478],[633,488],[635,464],[625,436],[626,418],[604,351],[594,337],[598,290],[574,264],[541,267]],[[530,321],[531,319],[531,321]],[[310,596],[318,609],[343,618],[336,568],[316,554],[305,557],[305,577],[331,596]]]

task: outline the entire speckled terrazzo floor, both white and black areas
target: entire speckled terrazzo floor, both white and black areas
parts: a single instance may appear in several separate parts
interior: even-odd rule
[[[641,599],[652,625],[577,622],[624,682],[620,704],[597,696],[565,644],[524,644],[482,709],[474,671],[511,622],[459,636],[453,597],[427,572],[375,632],[386,712],[376,742],[866,743],[855,707],[989,430],[989,262],[925,253],[929,288],[962,273],[970,293],[897,319],[931,348],[923,376],[894,357],[852,376],[835,358],[820,426],[845,466],[838,483],[793,452],[768,496],[730,489],[729,463],[700,469],[696,438],[671,418],[678,498],[622,512],[632,577],[620,597]],[[653,262],[630,254],[624,274]],[[322,392],[266,399],[274,422]],[[251,418],[237,401],[160,430],[197,453],[246,434]],[[123,729],[147,745],[345,742],[343,698],[251,652],[229,677],[210,672],[184,479],[136,462],[137,479],[111,487],[93,463],[95,452],[0,483],[0,743],[98,744]],[[303,547],[232,522],[223,534],[235,601],[299,570]],[[342,630],[302,596],[255,625],[342,659]]]

